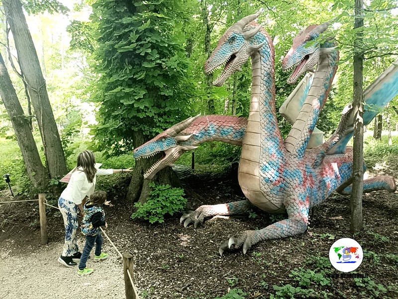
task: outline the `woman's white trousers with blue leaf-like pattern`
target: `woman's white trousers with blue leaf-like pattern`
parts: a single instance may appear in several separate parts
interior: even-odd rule
[[[70,257],[79,251],[76,239],[78,224],[78,206],[62,197],[58,199],[58,207],[64,218],[65,224],[65,244],[62,251],[64,257]]]

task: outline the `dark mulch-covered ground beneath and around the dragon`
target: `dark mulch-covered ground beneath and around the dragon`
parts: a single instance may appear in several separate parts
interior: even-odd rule
[[[396,170],[397,169],[397,170]],[[398,161],[377,172],[397,174]],[[397,175],[395,175],[397,177]],[[228,176],[191,176],[185,185],[201,196],[201,204],[216,204],[244,199],[236,180]],[[123,188],[121,188],[123,189]],[[218,254],[218,246],[243,230],[261,229],[272,217],[256,211],[255,218],[218,217],[197,229],[184,228],[181,215],[169,217],[164,224],[150,225],[132,220],[131,202],[121,196],[112,199],[106,210],[110,239],[121,251],[134,255],[135,283],[143,298],[213,299],[229,289],[246,295],[234,298],[270,298],[274,286],[292,285],[313,289],[310,297],[323,298],[398,298],[398,194],[373,192],[363,197],[365,229],[350,233],[350,198],[333,193],[311,214],[310,227],[302,235],[261,242],[246,255],[241,251]],[[191,201],[198,207],[198,200]],[[0,244],[8,240],[11,254],[23,255],[24,249],[40,247],[37,206],[27,203],[0,208]],[[48,212],[49,242],[63,239],[59,213]],[[354,238],[365,251],[357,273],[369,280],[333,278],[321,285],[300,285],[292,271],[322,269],[339,274],[328,264],[330,246],[339,238]],[[9,242],[9,240],[15,242]],[[105,242],[107,242],[105,240]],[[291,275],[291,276],[290,276]],[[381,286],[381,287],[380,287]],[[386,289],[387,291],[380,290]],[[289,298],[289,297],[285,297]],[[300,297],[295,297],[300,298]]]

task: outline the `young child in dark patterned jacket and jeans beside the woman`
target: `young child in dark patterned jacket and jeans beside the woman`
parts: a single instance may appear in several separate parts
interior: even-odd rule
[[[96,245],[94,262],[99,262],[109,256],[107,253],[101,252],[103,239],[100,230],[100,226],[108,227],[102,207],[103,204],[108,203],[106,201],[106,192],[97,191],[90,196],[90,200],[84,205],[85,216],[82,220],[82,233],[86,236],[86,245],[80,258],[78,276],[93,273],[94,269],[86,268],[86,262],[94,244]]]

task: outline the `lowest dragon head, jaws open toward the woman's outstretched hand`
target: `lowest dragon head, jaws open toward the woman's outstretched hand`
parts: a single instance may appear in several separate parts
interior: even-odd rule
[[[151,179],[155,174],[164,167],[173,164],[181,155],[188,150],[197,149],[198,147],[182,146],[181,142],[187,141],[192,137],[190,135],[181,135],[197,118],[190,117],[177,125],[160,133],[142,146],[134,149],[134,158],[148,158],[157,153],[162,152],[163,157],[156,161],[145,173],[144,178]]]

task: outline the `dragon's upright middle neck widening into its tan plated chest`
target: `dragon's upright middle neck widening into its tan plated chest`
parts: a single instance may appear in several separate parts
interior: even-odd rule
[[[260,34],[259,34],[260,33]],[[265,42],[252,58],[252,94],[246,135],[239,163],[239,185],[246,198],[261,209],[283,209],[279,182],[285,148],[275,112],[274,48],[261,29],[256,44]],[[261,39],[259,41],[259,39]]]

